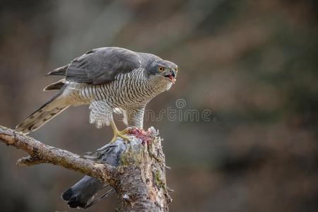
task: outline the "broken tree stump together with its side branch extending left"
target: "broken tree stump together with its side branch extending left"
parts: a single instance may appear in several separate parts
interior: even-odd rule
[[[117,192],[119,211],[168,211],[172,200],[167,192],[165,155],[158,133],[153,128],[148,131],[131,128],[128,136],[127,142],[117,139],[111,144],[122,146],[120,151],[107,152],[118,156],[118,165],[114,167],[102,160],[96,161],[99,154],[104,154],[100,151],[102,148],[80,156],[0,126],[0,141],[29,154],[20,158],[17,165],[50,163],[95,177]]]

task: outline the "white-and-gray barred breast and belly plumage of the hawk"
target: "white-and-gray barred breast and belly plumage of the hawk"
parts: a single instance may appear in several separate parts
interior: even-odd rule
[[[146,104],[171,86],[165,78],[147,76],[143,69],[136,69],[119,73],[115,81],[105,85],[69,83],[66,90],[72,105],[90,104],[90,123],[98,128],[110,124],[112,112],[124,114],[125,124],[142,127]]]

